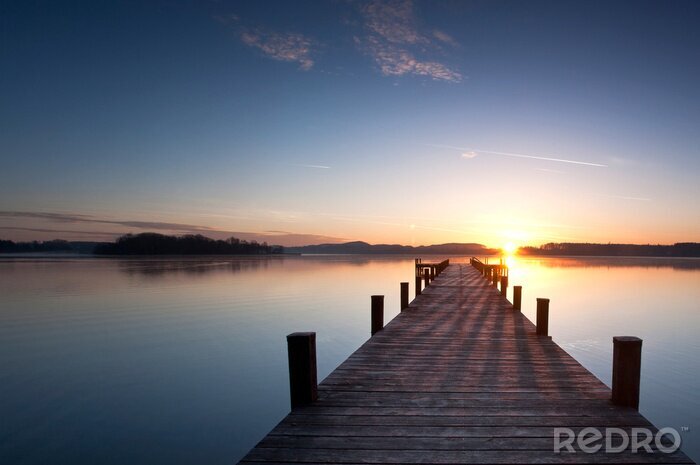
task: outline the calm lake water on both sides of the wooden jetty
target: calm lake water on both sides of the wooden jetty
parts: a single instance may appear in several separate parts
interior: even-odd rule
[[[510,264],[606,384],[612,337],[644,339],[640,410],[700,460],[700,260]],[[235,463],[289,411],[285,336],[317,332],[323,379],[400,281],[413,257],[0,258],[0,463]]]

